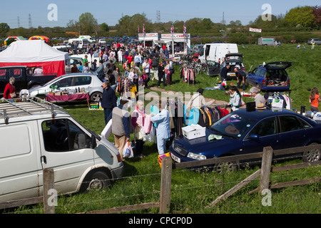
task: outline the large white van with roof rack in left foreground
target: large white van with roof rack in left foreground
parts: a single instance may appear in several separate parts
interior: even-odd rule
[[[106,187],[123,176],[111,142],[49,104],[0,104],[0,202],[42,196],[47,168],[54,169],[58,194]]]

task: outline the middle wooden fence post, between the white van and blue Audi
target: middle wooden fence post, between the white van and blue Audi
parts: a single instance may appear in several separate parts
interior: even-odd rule
[[[170,187],[172,181],[172,159],[163,157],[161,171],[161,197],[159,203],[159,212],[167,214],[170,208]]]

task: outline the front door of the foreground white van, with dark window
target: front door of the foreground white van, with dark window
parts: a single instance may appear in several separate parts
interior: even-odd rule
[[[58,192],[75,192],[81,175],[93,166],[91,135],[73,120],[39,120],[43,168],[53,168]]]

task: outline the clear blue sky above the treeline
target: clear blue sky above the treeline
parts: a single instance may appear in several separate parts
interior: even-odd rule
[[[49,21],[49,4],[57,6],[57,21]],[[90,12],[97,19],[98,24],[106,23],[114,26],[121,19],[121,16],[133,16],[134,14],[146,14],[147,19],[156,21],[156,12],[160,11],[161,22],[186,21],[193,18],[206,18],[214,23],[223,19],[227,22],[240,20],[243,25],[254,21],[263,14],[263,4],[270,4],[272,14],[286,14],[287,11],[296,6],[320,5],[320,0],[94,0],[94,1],[67,1],[67,0],[16,0],[1,1],[0,23],[6,23],[11,28],[20,26],[29,28],[29,14],[31,25],[35,28],[42,27],[65,27],[69,20],[78,20],[85,12]]]

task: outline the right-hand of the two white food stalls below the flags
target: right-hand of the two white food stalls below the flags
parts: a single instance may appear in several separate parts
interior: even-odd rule
[[[190,53],[190,33],[186,33],[185,36],[183,33],[162,34],[161,41],[166,43],[172,58]]]

